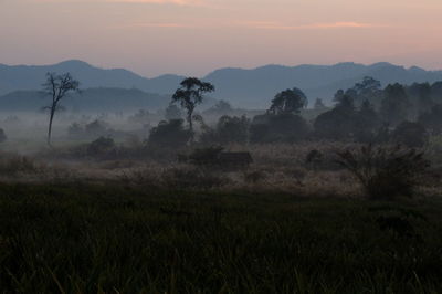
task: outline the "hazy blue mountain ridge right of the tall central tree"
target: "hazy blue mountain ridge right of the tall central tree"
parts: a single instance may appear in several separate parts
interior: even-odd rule
[[[404,69],[390,63],[364,65],[338,63],[336,65],[266,65],[253,70],[223,69],[214,71],[204,80],[217,86],[215,98],[228,97],[241,106],[269,106],[275,93],[298,87],[313,103],[316,97],[330,103],[339,88],[349,88],[364,76],[379,80],[382,86],[389,83],[442,81],[442,71],[431,72],[419,67]]]

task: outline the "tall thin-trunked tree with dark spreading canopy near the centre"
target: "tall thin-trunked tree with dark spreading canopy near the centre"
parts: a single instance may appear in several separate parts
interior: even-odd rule
[[[180,103],[181,107],[186,109],[189,130],[193,134],[192,115],[194,108],[202,103],[203,94],[213,92],[214,86],[210,83],[201,82],[197,77],[185,78],[180,85],[172,96],[172,102]]]

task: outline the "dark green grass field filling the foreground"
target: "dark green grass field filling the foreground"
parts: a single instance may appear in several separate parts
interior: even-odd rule
[[[0,186],[2,293],[441,293],[442,201]]]

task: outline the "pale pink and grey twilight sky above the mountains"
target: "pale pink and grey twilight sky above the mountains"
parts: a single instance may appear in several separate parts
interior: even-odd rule
[[[391,62],[442,69],[442,0],[0,0],[0,63],[152,77]]]

